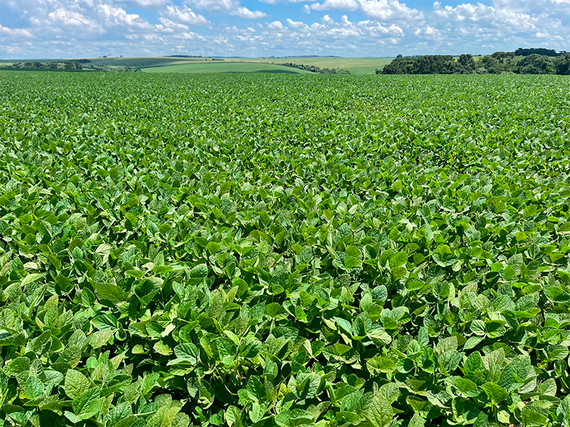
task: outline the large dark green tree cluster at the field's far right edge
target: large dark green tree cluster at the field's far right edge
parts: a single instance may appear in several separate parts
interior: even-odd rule
[[[538,50],[538,49],[534,49]],[[556,56],[516,52],[495,52],[482,58],[463,54],[457,60],[450,55],[425,55],[416,58],[398,55],[376,74],[560,74],[570,75],[570,53]],[[527,51],[532,51],[528,49]],[[526,53],[526,52],[525,52]],[[516,56],[522,58],[516,58]]]

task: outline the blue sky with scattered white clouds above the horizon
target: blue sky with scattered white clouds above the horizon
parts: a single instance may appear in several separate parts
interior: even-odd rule
[[[0,0],[0,58],[570,51],[570,0]]]

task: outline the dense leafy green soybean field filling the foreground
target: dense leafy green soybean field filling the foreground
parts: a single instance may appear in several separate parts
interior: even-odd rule
[[[0,72],[0,426],[569,426],[569,93]]]

